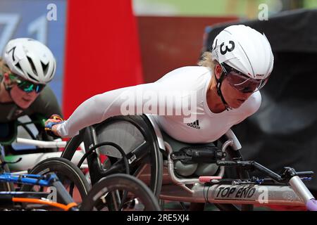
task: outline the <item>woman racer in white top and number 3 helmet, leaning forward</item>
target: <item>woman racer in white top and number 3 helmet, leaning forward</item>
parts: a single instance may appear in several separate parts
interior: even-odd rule
[[[233,25],[218,34],[211,53],[204,53],[199,65],[173,70],[151,84],[93,96],[68,120],[47,120],[46,129],[55,136],[73,137],[110,117],[145,113],[154,117],[172,139],[189,144],[212,143],[259,109],[259,90],[273,70],[273,53],[265,35],[244,25]],[[196,167],[179,169],[178,173],[191,176],[197,169],[200,176],[216,170]],[[308,198],[306,201],[313,199],[311,195]]]

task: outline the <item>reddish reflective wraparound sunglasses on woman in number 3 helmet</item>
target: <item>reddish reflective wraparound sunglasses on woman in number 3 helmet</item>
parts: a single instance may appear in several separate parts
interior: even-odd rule
[[[243,93],[259,91],[268,82],[268,77],[266,79],[253,79],[225,63],[220,64],[220,66],[223,68],[223,72],[225,72],[228,83]]]

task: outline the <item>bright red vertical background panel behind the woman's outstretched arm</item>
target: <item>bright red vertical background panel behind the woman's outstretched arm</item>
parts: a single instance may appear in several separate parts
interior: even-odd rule
[[[87,98],[143,82],[131,1],[68,1],[63,113]]]

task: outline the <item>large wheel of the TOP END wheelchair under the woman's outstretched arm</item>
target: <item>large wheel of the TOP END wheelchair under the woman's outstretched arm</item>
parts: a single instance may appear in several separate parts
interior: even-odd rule
[[[104,142],[120,146],[129,160],[131,175],[137,176],[145,165],[150,165],[149,188],[159,198],[163,158],[154,129],[145,115],[111,117],[100,124],[85,128],[68,141],[61,157],[71,160],[82,141],[86,151]],[[102,162],[101,157],[107,161]],[[118,148],[110,145],[99,147],[87,157],[87,162],[93,185],[105,176],[126,172],[123,155]]]

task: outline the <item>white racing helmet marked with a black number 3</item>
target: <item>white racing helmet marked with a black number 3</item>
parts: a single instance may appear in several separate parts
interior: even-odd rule
[[[252,79],[266,79],[273,70],[271,45],[264,34],[245,25],[232,25],[213,41],[213,60],[225,63]]]

